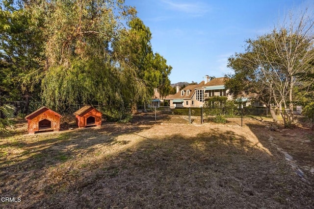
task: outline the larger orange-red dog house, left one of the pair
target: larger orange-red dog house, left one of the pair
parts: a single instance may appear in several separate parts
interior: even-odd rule
[[[25,117],[29,134],[38,131],[59,131],[62,116],[47,107],[39,108]]]

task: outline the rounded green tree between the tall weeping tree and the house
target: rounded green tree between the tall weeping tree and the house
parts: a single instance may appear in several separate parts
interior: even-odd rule
[[[168,75],[172,67],[167,65],[166,59],[160,54],[153,52],[149,27],[139,18],[132,19],[128,25],[122,38],[114,43],[114,51],[118,56],[123,56],[126,63],[135,67],[138,78],[148,88],[146,97],[141,97],[142,102],[151,99],[155,88],[161,96],[167,95],[171,89]]]

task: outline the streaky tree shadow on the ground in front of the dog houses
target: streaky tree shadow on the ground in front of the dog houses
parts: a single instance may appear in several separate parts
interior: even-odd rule
[[[131,124],[121,126],[107,123],[102,127],[20,135],[3,139],[0,141],[0,194],[3,197],[31,198],[38,193],[36,187],[38,181],[47,181],[43,178],[47,178],[46,173],[55,167],[61,166],[63,169],[62,167],[69,161],[79,161],[84,156],[97,155],[98,147],[127,144],[128,140],[117,140],[117,136],[137,133],[149,128],[151,126]],[[70,171],[71,168],[64,168],[64,170]],[[63,174],[61,172],[61,175]],[[58,179],[49,181],[58,181]],[[49,190],[50,186],[47,183],[41,189]]]

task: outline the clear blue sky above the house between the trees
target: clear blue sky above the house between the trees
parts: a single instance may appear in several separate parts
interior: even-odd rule
[[[232,72],[227,59],[310,0],[126,0],[153,34],[154,52],[173,67],[171,83]]]

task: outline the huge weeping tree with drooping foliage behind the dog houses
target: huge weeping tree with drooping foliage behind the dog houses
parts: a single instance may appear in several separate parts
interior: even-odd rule
[[[124,111],[147,94],[136,69],[112,48],[134,8],[122,0],[54,0],[34,5],[33,12],[45,14],[42,95],[48,106],[97,102]]]

